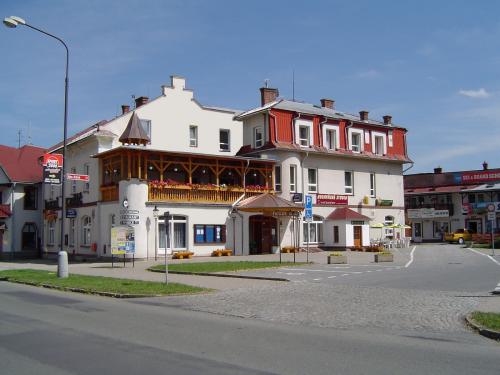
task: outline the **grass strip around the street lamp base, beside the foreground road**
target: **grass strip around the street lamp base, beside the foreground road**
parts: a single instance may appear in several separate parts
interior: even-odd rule
[[[200,293],[209,290],[178,283],[169,283],[166,285],[152,281],[75,274],[70,274],[68,278],[60,279],[55,272],[31,269],[0,271],[0,278],[15,283],[49,286],[65,290],[76,289],[74,291],[94,294],[116,293],[155,296]]]

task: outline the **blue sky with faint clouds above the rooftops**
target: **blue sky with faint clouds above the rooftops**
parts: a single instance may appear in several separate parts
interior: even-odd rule
[[[69,134],[157,97],[171,75],[202,104],[280,96],[408,129],[408,173],[500,167],[500,2],[0,0],[70,50]],[[0,144],[62,139],[64,48],[0,27]]]

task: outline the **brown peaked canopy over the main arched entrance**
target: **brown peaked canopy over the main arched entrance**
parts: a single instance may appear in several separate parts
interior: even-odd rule
[[[272,216],[297,216],[304,210],[302,205],[297,205],[270,193],[246,198],[236,208],[240,211],[263,212]]]

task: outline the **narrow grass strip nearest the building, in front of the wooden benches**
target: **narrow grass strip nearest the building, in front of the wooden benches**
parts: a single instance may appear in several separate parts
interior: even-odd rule
[[[199,263],[176,263],[169,264],[169,271],[177,272],[231,272],[231,271],[243,271],[243,270],[255,270],[262,268],[275,268],[275,267],[287,267],[287,266],[297,266],[306,264],[303,262],[252,262],[252,261],[242,261],[242,262],[199,262]],[[165,265],[159,264],[150,268],[151,271],[165,271]]]

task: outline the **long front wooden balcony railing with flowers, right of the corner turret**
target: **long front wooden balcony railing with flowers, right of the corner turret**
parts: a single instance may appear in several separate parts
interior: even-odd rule
[[[234,203],[242,194],[243,188],[213,187],[203,188],[190,186],[157,186],[149,184],[149,201],[151,202],[198,202],[198,203]],[[247,190],[246,196],[272,192],[271,190]]]

